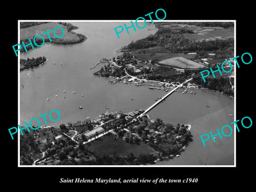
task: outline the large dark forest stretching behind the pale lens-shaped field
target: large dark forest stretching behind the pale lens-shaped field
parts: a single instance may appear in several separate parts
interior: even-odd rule
[[[127,45],[127,49],[137,50],[145,49],[153,46],[162,46],[171,53],[178,52],[216,52],[215,58],[221,55],[233,57],[234,54],[234,38],[217,39],[214,41],[191,41],[186,38],[183,33],[192,33],[188,28],[170,26],[169,28],[159,28],[157,33],[149,35],[146,38],[139,39]],[[220,53],[220,55],[219,55]],[[197,55],[197,57],[200,55]]]

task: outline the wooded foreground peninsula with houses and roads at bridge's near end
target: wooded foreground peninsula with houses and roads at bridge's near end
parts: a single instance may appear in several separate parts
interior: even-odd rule
[[[25,133],[20,138],[20,163],[141,165],[178,157],[192,141],[190,125],[173,126],[143,112],[107,111],[97,120],[86,118]]]

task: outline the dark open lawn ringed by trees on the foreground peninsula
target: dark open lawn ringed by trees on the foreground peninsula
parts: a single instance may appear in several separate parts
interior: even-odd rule
[[[94,151],[99,156],[127,156],[127,154],[133,153],[134,156],[141,154],[153,154],[155,150],[149,145],[141,142],[140,145],[130,144],[123,139],[115,140],[115,136],[111,133],[104,135],[103,137],[93,140],[85,144],[85,148]]]

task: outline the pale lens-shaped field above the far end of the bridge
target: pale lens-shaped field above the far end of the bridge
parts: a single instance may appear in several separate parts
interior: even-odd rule
[[[189,69],[196,69],[196,68],[204,68],[204,65],[201,65],[195,61],[191,61],[182,57],[175,57],[175,58],[169,58],[162,61],[159,61],[159,63],[173,66],[173,67],[180,67],[180,68],[189,68]]]

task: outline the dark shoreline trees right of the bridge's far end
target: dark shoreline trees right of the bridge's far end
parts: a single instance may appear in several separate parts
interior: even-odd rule
[[[214,91],[222,92],[223,94],[234,97],[234,90],[230,84],[229,77],[220,77],[220,78],[205,78],[205,83],[203,81],[202,76],[196,76],[192,80],[193,83],[201,85],[204,88],[211,89]],[[234,79],[231,79],[231,83],[234,84]]]

